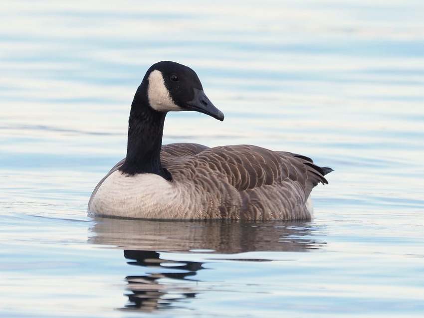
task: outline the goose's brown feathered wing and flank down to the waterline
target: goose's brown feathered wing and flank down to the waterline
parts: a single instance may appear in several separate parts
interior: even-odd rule
[[[167,147],[170,154],[177,146]],[[325,171],[311,159],[257,146],[206,148],[181,159],[167,157],[162,163],[176,180],[204,188],[209,200],[220,202],[225,217],[310,218],[305,202],[318,182],[327,183]]]

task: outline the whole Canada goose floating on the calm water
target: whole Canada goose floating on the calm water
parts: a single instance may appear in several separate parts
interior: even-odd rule
[[[301,220],[313,218],[312,188],[329,167],[250,145],[162,146],[169,111],[220,121],[197,74],[169,61],[152,65],[131,105],[127,157],[100,180],[90,215],[145,219]]]

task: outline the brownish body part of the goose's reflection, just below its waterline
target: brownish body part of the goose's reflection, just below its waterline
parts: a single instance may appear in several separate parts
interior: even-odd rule
[[[149,221],[95,218],[90,243],[122,249],[189,252],[207,249],[216,253],[251,251],[305,251],[319,248],[317,228],[310,222],[272,221],[248,223],[215,221]]]

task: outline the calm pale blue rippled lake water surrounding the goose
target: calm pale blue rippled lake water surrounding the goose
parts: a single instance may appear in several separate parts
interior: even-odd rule
[[[0,316],[423,317],[424,2],[24,1],[0,10]],[[196,70],[221,123],[335,169],[312,222],[89,218],[147,68]]]

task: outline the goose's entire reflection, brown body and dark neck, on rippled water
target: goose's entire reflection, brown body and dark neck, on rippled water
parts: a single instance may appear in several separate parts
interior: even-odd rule
[[[143,269],[143,275],[126,277],[131,294],[125,309],[149,312],[175,309],[179,301],[195,298],[201,283],[195,276],[205,263],[271,261],[239,253],[304,252],[325,244],[314,239],[319,230],[310,222],[95,218],[90,231],[90,243],[122,248],[127,263]]]

